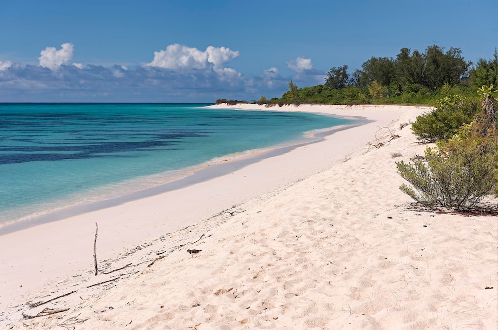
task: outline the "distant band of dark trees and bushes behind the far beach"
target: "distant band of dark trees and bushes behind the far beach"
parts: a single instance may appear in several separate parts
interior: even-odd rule
[[[492,59],[467,62],[460,49],[429,46],[424,52],[402,48],[395,58],[371,57],[352,73],[332,67],[323,85],[298,88],[289,83],[282,97],[262,96],[253,103],[284,104],[426,104],[455,94],[476,99],[482,85],[498,86],[498,51]]]

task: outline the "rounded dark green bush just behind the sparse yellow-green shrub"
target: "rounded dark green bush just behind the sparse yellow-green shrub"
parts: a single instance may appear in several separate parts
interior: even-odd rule
[[[443,97],[435,110],[417,117],[412,130],[419,140],[448,139],[480,111],[477,99],[460,95]]]

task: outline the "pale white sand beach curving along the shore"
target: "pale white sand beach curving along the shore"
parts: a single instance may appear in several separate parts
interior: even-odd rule
[[[371,121],[0,236],[0,328],[498,327],[497,218],[429,212],[398,189],[395,161],[426,148],[400,125],[430,108],[230,108]]]

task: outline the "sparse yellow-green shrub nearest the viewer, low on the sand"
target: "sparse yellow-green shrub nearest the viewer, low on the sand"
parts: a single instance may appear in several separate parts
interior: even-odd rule
[[[448,153],[437,154],[428,147],[425,162],[396,162],[398,173],[413,186],[403,184],[400,190],[431,208],[471,208],[496,192],[497,150],[494,137],[458,140]]]

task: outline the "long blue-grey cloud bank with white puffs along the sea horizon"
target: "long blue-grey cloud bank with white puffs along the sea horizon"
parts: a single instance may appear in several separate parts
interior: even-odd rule
[[[277,67],[245,76],[227,67],[238,51],[209,46],[205,51],[180,44],[154,53],[138,67],[72,63],[74,46],[47,47],[40,65],[0,62],[0,98],[5,101],[186,102],[217,98],[253,99],[281,96],[290,80],[299,87],[323,83],[325,72],[311,59],[286,62],[294,72],[282,76]],[[49,70],[50,69],[50,70]]]

